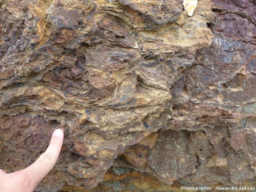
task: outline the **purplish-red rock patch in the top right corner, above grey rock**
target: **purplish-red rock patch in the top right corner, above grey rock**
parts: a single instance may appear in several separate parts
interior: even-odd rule
[[[227,37],[255,44],[256,6],[255,1],[213,0],[218,22],[216,32]]]

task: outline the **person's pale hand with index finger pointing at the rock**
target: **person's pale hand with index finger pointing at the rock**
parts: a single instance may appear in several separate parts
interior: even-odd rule
[[[63,144],[63,137],[62,130],[55,130],[46,152],[27,168],[13,173],[6,173],[0,169],[0,192],[34,191],[38,183],[56,164]]]

